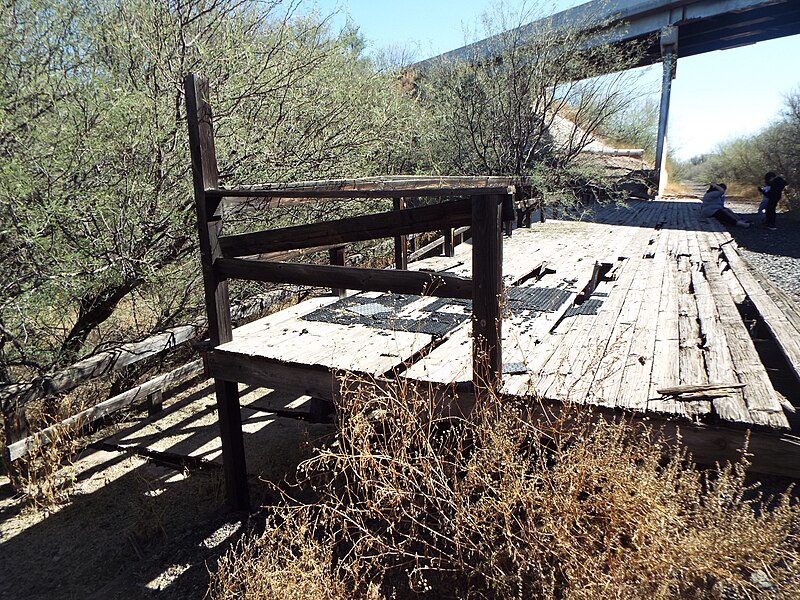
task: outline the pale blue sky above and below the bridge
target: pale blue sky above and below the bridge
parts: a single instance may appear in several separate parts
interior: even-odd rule
[[[582,3],[528,4],[550,14]],[[421,60],[475,39],[467,32],[482,33],[480,17],[496,4],[495,0],[306,0],[301,10],[336,12],[336,26],[349,16],[371,50],[400,47]],[[520,4],[505,2],[512,8]],[[779,115],[784,95],[800,90],[798,57],[800,36],[679,58],[670,105],[670,153],[687,159],[768,125]],[[660,80],[660,65],[643,70],[642,85],[658,89]]]

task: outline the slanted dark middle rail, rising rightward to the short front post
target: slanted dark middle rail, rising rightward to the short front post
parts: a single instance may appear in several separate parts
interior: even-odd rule
[[[469,225],[472,218],[470,204],[470,200],[456,200],[311,225],[241,233],[221,237],[219,244],[222,255],[231,258],[435,231]]]

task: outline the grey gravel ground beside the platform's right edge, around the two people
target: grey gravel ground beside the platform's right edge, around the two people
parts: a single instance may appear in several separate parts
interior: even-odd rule
[[[729,227],[740,254],[772,283],[800,303],[800,215],[778,213],[777,231],[763,225],[753,202],[729,199],[727,205],[752,226]]]

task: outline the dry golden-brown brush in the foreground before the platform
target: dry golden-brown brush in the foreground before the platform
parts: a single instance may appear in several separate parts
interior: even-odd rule
[[[800,595],[800,510],[748,488],[744,460],[703,472],[585,408],[489,397],[453,417],[410,385],[343,387],[338,443],[301,467],[317,500],[278,507],[292,532],[229,557],[238,577],[280,570],[302,530],[293,560],[320,545],[353,597],[369,581],[401,599]]]

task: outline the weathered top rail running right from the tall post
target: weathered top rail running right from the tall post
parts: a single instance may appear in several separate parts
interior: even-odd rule
[[[294,183],[266,183],[217,189],[214,198],[402,198],[431,196],[490,196],[513,193],[524,178],[387,176]]]

